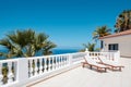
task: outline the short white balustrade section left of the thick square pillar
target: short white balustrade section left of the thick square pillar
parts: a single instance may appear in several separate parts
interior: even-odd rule
[[[0,60],[0,87],[17,80],[17,59]]]

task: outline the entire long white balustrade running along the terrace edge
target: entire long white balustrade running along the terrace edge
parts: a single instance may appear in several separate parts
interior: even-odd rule
[[[104,55],[107,60],[118,61],[120,58],[120,52],[78,52],[78,53],[67,53],[67,54],[56,54],[56,55],[44,55],[44,57],[32,57],[32,58],[20,58],[12,60],[1,60],[0,61],[0,87],[8,85],[8,87],[20,87],[25,85],[32,79],[37,79],[43,77],[43,75],[48,75],[46,73],[52,73],[61,69],[69,69],[72,65],[80,64],[83,58],[87,55],[94,60],[98,60],[98,55]],[[8,83],[2,82],[3,64],[8,65]],[[12,70],[13,66],[13,70]],[[13,72],[12,72],[13,71]],[[39,76],[40,75],[40,76]],[[13,80],[14,78],[14,80]],[[10,85],[14,82],[16,84]]]

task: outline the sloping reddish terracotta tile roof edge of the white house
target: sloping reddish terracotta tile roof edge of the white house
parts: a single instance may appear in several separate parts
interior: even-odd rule
[[[124,30],[124,32],[121,32],[121,33],[117,33],[117,34],[112,34],[112,35],[108,35],[108,36],[104,36],[104,37],[100,37],[99,39],[105,39],[105,38],[110,38],[110,37],[118,37],[118,36],[123,36],[123,35],[131,35],[131,29]]]

